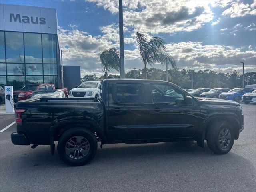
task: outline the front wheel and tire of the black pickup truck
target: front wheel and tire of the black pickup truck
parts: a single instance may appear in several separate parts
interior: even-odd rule
[[[226,132],[226,130],[228,131]],[[227,134],[226,138],[229,138],[223,142],[223,134],[222,133],[229,133]],[[224,137],[225,138],[225,137]],[[226,154],[228,153],[233,144],[234,144],[234,133],[233,130],[228,122],[218,122],[214,123],[210,126],[207,136],[207,145],[208,148],[216,153],[216,154]],[[228,144],[228,145],[227,145]]]

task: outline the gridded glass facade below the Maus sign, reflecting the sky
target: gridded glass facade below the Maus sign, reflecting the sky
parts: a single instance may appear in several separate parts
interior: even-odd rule
[[[0,31],[0,85],[60,82],[56,34]]]

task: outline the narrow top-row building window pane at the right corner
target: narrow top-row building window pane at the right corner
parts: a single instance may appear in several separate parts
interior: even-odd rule
[[[56,63],[56,35],[42,34],[43,62]]]

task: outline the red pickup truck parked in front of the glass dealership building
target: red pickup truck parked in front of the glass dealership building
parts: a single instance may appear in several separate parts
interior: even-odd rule
[[[34,91],[39,90],[55,90],[54,84],[50,83],[44,83],[44,84],[29,84],[24,87],[22,87],[18,91],[13,92],[13,100],[14,102],[18,102],[20,100],[29,99]],[[66,97],[68,96],[68,90],[67,88],[58,89],[62,90]]]

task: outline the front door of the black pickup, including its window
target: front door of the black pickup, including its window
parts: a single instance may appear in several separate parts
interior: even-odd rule
[[[200,108],[186,104],[185,92],[170,84],[150,84],[150,130],[157,138],[187,138],[198,132]]]

